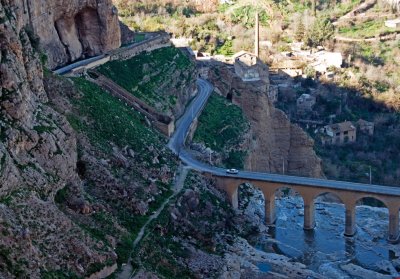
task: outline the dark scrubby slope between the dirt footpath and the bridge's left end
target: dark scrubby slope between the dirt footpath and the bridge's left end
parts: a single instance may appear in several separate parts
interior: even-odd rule
[[[163,278],[217,278],[224,255],[237,236],[254,231],[243,214],[235,213],[213,182],[191,172],[185,186],[148,228],[135,250],[136,270]]]

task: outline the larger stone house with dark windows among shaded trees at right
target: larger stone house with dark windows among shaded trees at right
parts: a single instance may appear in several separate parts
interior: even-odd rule
[[[357,128],[350,121],[324,126],[321,137],[322,144],[344,144],[355,142],[356,139]]]

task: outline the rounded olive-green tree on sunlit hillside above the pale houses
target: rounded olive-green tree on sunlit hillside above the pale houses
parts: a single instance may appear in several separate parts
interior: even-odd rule
[[[318,18],[307,31],[304,43],[310,47],[322,45],[331,39],[335,28],[328,18]]]

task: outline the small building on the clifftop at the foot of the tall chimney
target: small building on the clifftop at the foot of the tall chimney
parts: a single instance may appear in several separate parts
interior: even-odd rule
[[[240,51],[234,55],[235,73],[243,81],[263,80],[269,83],[268,66],[258,57],[247,51]]]

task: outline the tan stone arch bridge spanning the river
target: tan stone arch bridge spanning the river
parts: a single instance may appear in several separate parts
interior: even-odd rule
[[[315,227],[314,200],[325,193],[337,196],[345,205],[345,236],[356,233],[356,204],[363,198],[375,198],[389,210],[388,241],[399,241],[400,188],[333,181],[287,175],[239,172],[238,175],[213,173],[217,187],[225,191],[234,208],[238,207],[238,188],[250,183],[260,189],[265,199],[265,219],[268,225],[275,223],[275,193],[281,188],[290,188],[300,194],[304,201],[304,229]]]

